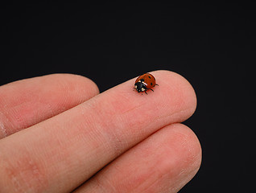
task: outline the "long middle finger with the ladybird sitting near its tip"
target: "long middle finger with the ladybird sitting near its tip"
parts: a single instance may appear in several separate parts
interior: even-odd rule
[[[6,187],[14,187],[15,179],[22,190],[37,183],[33,191],[72,191],[158,129],[190,117],[196,96],[188,81],[173,72],[152,74],[159,84],[155,92],[141,95],[132,89],[135,79],[129,80],[4,138],[0,146],[5,164],[0,167],[10,171],[0,173],[0,179],[6,179]]]

